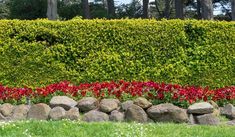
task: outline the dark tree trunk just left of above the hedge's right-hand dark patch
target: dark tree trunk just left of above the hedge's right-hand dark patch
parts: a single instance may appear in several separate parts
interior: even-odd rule
[[[183,0],[175,0],[175,17],[184,19],[184,2]]]

